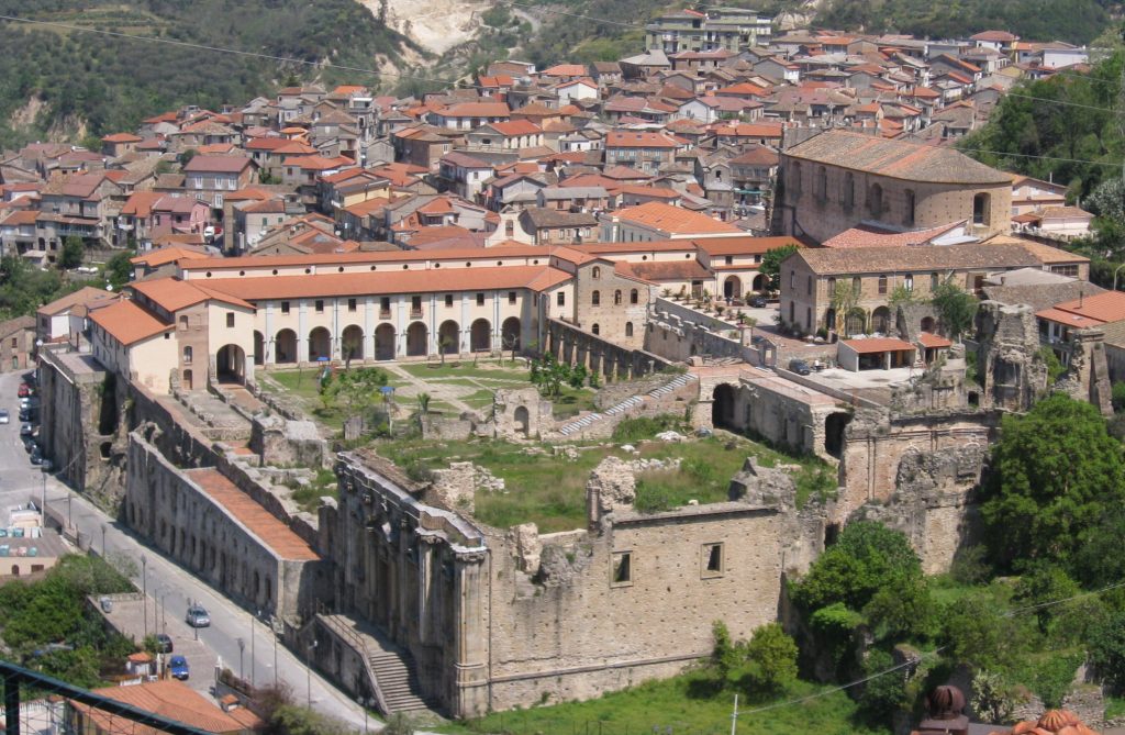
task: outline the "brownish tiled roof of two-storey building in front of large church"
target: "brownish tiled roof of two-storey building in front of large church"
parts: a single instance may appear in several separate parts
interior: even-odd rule
[[[958,270],[966,268],[1023,268],[1041,266],[1038,258],[1019,245],[918,245],[914,248],[804,248],[792,256],[802,258],[812,272],[878,274],[912,270]]]

